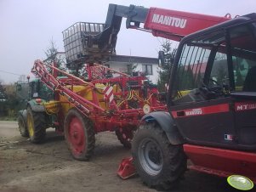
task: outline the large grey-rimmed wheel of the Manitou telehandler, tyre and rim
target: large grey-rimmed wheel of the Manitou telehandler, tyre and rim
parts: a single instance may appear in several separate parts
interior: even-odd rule
[[[145,123],[134,134],[134,166],[142,181],[156,189],[171,189],[186,170],[186,156],[181,144],[170,144],[156,122]]]

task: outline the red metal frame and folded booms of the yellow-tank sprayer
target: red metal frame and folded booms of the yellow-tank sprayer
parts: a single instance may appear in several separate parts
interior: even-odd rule
[[[54,91],[55,99],[60,99],[60,95],[65,96],[65,102],[73,105],[84,116],[92,119],[96,133],[115,131],[122,127],[134,128],[139,126],[141,117],[145,115],[143,111],[144,104],[149,104],[151,111],[167,111],[166,104],[159,102],[157,99],[157,89],[146,87],[147,79],[145,76],[128,76],[105,66],[94,64],[85,65],[89,78],[84,81],[82,78],[60,71],[52,65],[47,66],[65,77],[55,78],[47,71],[41,60],[35,61],[31,72]],[[105,77],[106,74],[112,74],[114,77],[107,78]],[[135,84],[128,86],[129,82],[135,82]],[[99,83],[104,85],[105,88],[113,88],[114,85],[118,85],[122,89],[119,92],[110,92],[112,94],[110,97],[104,95],[105,103],[108,104],[107,110],[100,106],[97,93],[104,93],[103,89],[105,88],[98,88],[96,85]],[[79,93],[75,93],[73,87],[77,85],[90,88],[93,99],[88,100]],[[112,100],[110,100],[111,98]],[[138,105],[136,107],[130,106],[130,101],[136,101]],[[63,115],[60,116],[62,116],[62,119],[64,118]]]

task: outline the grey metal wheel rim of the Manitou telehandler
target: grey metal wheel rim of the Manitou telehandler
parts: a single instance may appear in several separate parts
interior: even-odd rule
[[[162,170],[162,151],[159,145],[150,138],[139,144],[139,162],[148,174],[155,176]]]

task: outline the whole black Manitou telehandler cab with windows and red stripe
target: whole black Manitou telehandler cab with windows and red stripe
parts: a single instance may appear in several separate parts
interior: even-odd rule
[[[255,19],[248,14],[180,42],[168,110],[188,143],[256,150]]]

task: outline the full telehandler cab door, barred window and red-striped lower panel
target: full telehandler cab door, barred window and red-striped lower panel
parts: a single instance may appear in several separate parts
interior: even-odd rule
[[[182,50],[176,92],[169,107],[180,133],[191,144],[236,144],[232,67],[225,31],[196,37]]]

